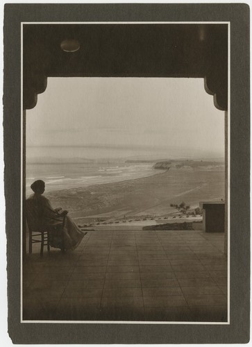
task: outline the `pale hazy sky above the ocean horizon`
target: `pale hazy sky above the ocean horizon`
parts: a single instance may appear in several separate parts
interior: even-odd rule
[[[26,155],[224,158],[224,112],[203,78],[48,78],[26,111]]]

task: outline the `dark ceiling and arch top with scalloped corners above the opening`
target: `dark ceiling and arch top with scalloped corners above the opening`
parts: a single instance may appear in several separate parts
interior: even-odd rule
[[[50,76],[201,77],[227,110],[227,24],[24,24],[24,109]],[[80,49],[62,51],[75,39]]]

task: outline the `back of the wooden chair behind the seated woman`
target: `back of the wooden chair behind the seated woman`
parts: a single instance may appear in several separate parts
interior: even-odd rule
[[[26,199],[26,220],[31,231],[43,231],[40,208],[35,198]]]

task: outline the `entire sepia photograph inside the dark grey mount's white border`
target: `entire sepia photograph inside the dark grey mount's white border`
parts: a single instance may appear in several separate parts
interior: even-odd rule
[[[22,28],[22,320],[227,323],[228,24]]]

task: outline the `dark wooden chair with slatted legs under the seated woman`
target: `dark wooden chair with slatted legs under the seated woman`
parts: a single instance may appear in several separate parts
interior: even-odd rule
[[[29,253],[33,253],[33,244],[40,243],[40,255],[44,253],[44,246],[47,246],[47,251],[50,251],[50,242],[53,237],[61,238],[61,250],[65,251],[64,245],[64,226],[65,217],[62,223],[56,226],[49,226],[46,229],[42,228],[42,221],[39,216],[39,211],[35,205],[35,201],[31,198],[26,200],[26,221],[29,232]]]

